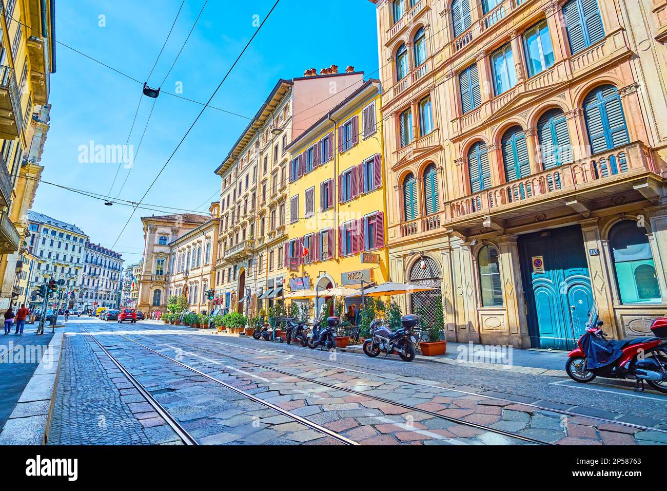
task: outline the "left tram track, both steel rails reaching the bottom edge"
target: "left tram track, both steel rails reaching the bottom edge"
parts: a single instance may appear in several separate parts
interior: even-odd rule
[[[129,372],[129,370],[123,366],[118,359],[109,352],[109,350],[95,337],[95,333],[91,333],[88,329],[85,327],[79,325],[81,329],[86,331],[90,337],[101,347],[101,349],[104,351],[104,353],[113,361],[113,363],[118,367],[118,369],[129,379],[129,381],[137,388],[139,393],[145,397],[145,399],[153,406],[156,410],[156,412],[167,422],[167,424],[179,435],[179,438],[183,440],[183,443],[187,445],[199,445],[197,440],[193,438],[183,426],[175,419],[169,412],[151,395],[151,393],[141,385],[141,383]],[[224,381],[221,381],[220,379],[217,379],[213,377],[212,375],[209,375],[203,371],[200,371],[194,367],[191,367],[190,365],[187,365],[186,363],[183,363],[182,361],[179,361],[173,357],[169,357],[163,353],[160,353],[159,351],[156,351],[155,349],[152,349],[151,347],[145,346],[142,343],[139,343],[138,341],[135,341],[133,339],[130,339],[129,337],[119,335],[119,337],[122,337],[123,339],[127,339],[127,341],[131,341],[132,343],[135,343],[136,345],[139,345],[143,349],[147,351],[151,351],[152,353],[155,353],[155,355],[159,355],[160,357],[163,357],[164,359],[167,359],[173,363],[177,363],[181,367],[188,369],[189,371],[192,371],[193,373],[196,373],[197,375],[201,377],[205,377],[205,379],[212,381],[214,383],[217,383],[218,385],[221,385],[222,387],[225,387],[226,389],[229,389],[239,395],[242,395],[243,397],[250,399],[251,401],[254,401],[255,403],[259,403],[260,405],[267,407],[274,412],[277,412],[278,414],[281,414],[282,416],[285,416],[287,418],[290,418],[291,420],[294,420],[295,422],[298,422],[300,424],[303,424],[303,426],[306,426],[307,428],[318,432],[319,434],[322,434],[322,436],[333,438],[334,440],[341,442],[342,444],[345,445],[358,445],[357,442],[354,442],[354,440],[350,440],[350,438],[346,438],[345,436],[342,436],[341,434],[338,434],[337,432],[334,432],[333,430],[329,430],[328,428],[324,428],[323,426],[320,426],[316,423],[313,423],[306,418],[303,418],[302,416],[299,416],[297,414],[293,414],[292,412],[289,412],[287,410],[284,410],[282,407],[279,407],[273,403],[270,403],[268,401],[264,401],[263,399],[256,397],[255,395],[248,393],[246,391],[243,391],[242,389],[239,389],[237,387],[234,387],[233,385],[226,383]]]

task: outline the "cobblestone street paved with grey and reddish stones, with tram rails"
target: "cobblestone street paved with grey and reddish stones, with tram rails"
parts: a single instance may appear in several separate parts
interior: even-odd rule
[[[667,443],[664,397],[626,387],[151,321],[76,319],[66,332],[49,444]]]

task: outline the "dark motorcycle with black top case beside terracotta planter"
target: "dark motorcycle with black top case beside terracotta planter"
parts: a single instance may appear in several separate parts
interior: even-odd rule
[[[362,349],[366,355],[374,358],[380,353],[398,353],[403,361],[412,361],[416,356],[415,337],[412,329],[419,324],[419,316],[414,314],[401,317],[402,327],[392,333],[388,325],[380,319],[374,319],[370,325],[371,337],[364,341]]]

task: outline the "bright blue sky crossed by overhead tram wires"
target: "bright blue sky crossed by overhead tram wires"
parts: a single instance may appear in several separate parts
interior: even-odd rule
[[[209,0],[163,89],[206,102],[252,36],[253,16],[265,17],[275,0],[231,2]],[[204,0],[185,0],[150,86],[167,74]],[[56,0],[56,39],[144,81],[167,36],[181,0]],[[341,7],[341,5],[345,5]],[[100,27],[100,16],[105,27]],[[124,145],[139,102],[141,86],[107,67],[57,45],[57,72],[51,75],[51,130],[41,165],[43,180],[107,194],[115,163],[81,163],[79,147],[89,142]],[[280,0],[275,11],[237,63],[212,106],[252,117],[278,78],[303,75],[332,63],[354,65],[366,77],[378,77],[376,7],[368,0],[344,2]],[[161,94],[137,153],[153,100],[143,98],[129,144],[135,158],[123,168],[111,191],[138,201],[176,148],[201,106]],[[207,212],[219,199],[220,180],[213,171],[227,155],[248,120],[207,108],[144,202]],[[206,204],[205,204],[206,203]],[[204,205],[204,206],[201,206]],[[111,247],[131,208],[40,184],[33,209],[74,223],[93,242]],[[159,211],[137,210],[115,251],[133,263],[141,258],[143,232],[139,217]]]

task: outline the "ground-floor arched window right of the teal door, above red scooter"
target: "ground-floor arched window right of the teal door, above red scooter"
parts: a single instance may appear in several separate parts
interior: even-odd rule
[[[622,303],[660,303],[656,276],[646,228],[634,220],[622,220],[609,231],[616,284]]]

